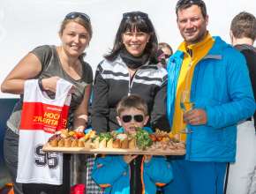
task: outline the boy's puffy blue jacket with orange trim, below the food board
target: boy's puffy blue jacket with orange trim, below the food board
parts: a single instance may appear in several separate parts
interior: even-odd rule
[[[149,128],[144,129],[152,132]],[[120,128],[117,132],[124,132],[124,129]],[[153,156],[148,163],[142,164],[143,194],[155,194],[157,186],[163,186],[171,181],[172,168],[164,157]],[[105,188],[104,193],[130,194],[130,166],[124,161],[123,155],[97,158],[92,177]]]

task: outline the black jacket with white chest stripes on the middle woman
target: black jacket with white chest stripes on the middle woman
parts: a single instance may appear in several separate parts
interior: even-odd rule
[[[166,119],[167,71],[158,64],[142,65],[130,79],[121,57],[102,61],[94,78],[92,126],[95,131],[113,131],[117,123],[117,103],[131,93],[147,101],[150,123],[154,129],[169,130]]]

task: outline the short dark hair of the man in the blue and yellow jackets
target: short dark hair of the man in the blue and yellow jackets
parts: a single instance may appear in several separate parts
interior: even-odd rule
[[[198,5],[200,7],[201,13],[202,13],[204,19],[206,19],[206,17],[207,17],[207,6],[206,6],[205,2],[202,1],[202,0],[179,0],[179,1],[177,1],[176,15],[177,15],[177,11],[187,9],[187,8],[191,7],[192,5],[194,5],[194,4]]]

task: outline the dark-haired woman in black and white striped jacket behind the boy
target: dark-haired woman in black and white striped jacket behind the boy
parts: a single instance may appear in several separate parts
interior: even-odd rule
[[[147,13],[123,14],[114,47],[98,65],[94,78],[92,126],[95,131],[114,131],[120,127],[116,118],[117,103],[132,93],[147,101],[150,116],[147,126],[169,129],[165,116],[167,72],[157,65],[157,44]],[[98,189],[92,189],[94,184],[90,177],[88,179],[87,193],[95,193]]]

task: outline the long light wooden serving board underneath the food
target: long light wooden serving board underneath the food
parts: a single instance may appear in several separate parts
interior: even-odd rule
[[[184,149],[166,149],[166,150],[153,150],[147,149],[145,151],[139,149],[118,149],[118,148],[97,148],[87,149],[84,147],[53,147],[46,144],[42,147],[44,152],[60,152],[60,153],[104,153],[104,154],[139,154],[139,155],[184,155]]]

